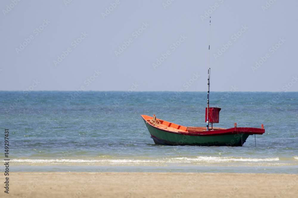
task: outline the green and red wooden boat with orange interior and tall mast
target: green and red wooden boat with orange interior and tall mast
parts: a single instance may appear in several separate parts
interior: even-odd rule
[[[211,26],[211,17],[210,17]],[[209,54],[210,54],[210,31],[209,31]],[[208,65],[209,68],[209,65]],[[208,69],[208,94],[207,108],[205,113],[206,127],[181,126],[171,122],[157,119],[148,115],[141,115],[155,144],[164,145],[199,145],[199,146],[242,146],[249,135],[265,133],[262,128],[237,127],[213,128],[213,123],[219,122],[221,108],[209,107],[210,68]],[[208,112],[208,113],[207,113]],[[211,129],[209,123],[212,124]]]

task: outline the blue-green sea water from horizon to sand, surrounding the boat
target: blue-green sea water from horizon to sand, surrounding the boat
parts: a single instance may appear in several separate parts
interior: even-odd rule
[[[154,144],[140,115],[205,126],[205,92],[0,91],[0,102],[10,171],[298,173],[297,92],[211,92],[214,127],[264,124],[242,147]]]

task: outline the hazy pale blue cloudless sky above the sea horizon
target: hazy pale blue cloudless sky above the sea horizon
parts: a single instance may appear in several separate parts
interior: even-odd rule
[[[70,1],[70,2],[69,2]],[[0,90],[298,91],[298,1],[0,3]]]

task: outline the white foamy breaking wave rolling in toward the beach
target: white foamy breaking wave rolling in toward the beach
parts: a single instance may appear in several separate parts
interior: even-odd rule
[[[297,159],[297,156],[295,156]],[[197,157],[174,157],[161,159],[12,159],[15,165],[51,166],[51,165],[72,165],[72,166],[167,166],[167,165],[255,165],[260,163],[276,163],[280,161],[274,158],[242,158],[224,156],[197,156]],[[240,164],[239,164],[240,163]]]

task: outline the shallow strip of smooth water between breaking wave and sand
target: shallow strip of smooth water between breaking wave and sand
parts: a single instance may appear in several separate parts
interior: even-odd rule
[[[0,171],[3,171],[2,168]],[[184,173],[273,173],[297,174],[297,165],[291,166],[17,166],[12,172],[184,172]]]

